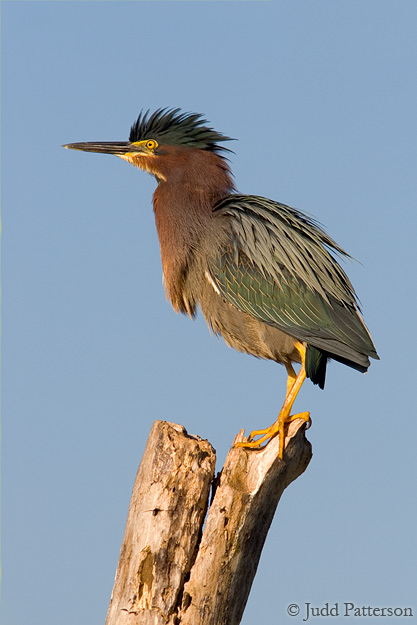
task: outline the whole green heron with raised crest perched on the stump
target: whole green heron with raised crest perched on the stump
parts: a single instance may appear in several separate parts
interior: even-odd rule
[[[141,113],[129,141],[69,143],[114,154],[157,180],[153,195],[167,298],[176,312],[199,307],[234,349],[282,363],[288,374],[278,419],[240,446],[259,448],[285,425],[305,378],[324,388],[330,358],[366,372],[378,359],[357,297],[336,256],[349,256],[312,218],[264,197],[240,195],[207,120],[180,109]],[[292,363],[301,363],[296,374]],[[258,438],[256,438],[258,437]]]

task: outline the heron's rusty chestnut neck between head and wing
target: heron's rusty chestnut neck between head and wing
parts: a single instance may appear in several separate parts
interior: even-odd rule
[[[185,280],[199,244],[213,219],[214,205],[235,188],[226,161],[193,150],[178,166],[165,169],[153,196],[167,297],[178,312],[194,314],[195,302],[184,293]]]

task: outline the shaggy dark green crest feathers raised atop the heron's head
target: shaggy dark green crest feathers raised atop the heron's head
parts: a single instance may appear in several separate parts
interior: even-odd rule
[[[202,115],[181,113],[179,108],[158,109],[152,114],[149,110],[142,111],[130,129],[129,141],[155,139],[162,145],[179,145],[211,152],[231,152],[217,142],[234,139],[205,126],[207,123]]]

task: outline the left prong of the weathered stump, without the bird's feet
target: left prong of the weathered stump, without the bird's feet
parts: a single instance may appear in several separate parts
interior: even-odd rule
[[[106,625],[167,623],[196,556],[215,452],[185,428],[156,421],[130,502]]]

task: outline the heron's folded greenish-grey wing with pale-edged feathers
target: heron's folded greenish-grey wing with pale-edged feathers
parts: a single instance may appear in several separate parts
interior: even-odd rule
[[[257,196],[231,195],[214,210],[229,235],[209,260],[224,299],[329,355],[365,363],[376,353],[334,257],[348,255],[319,224]]]

